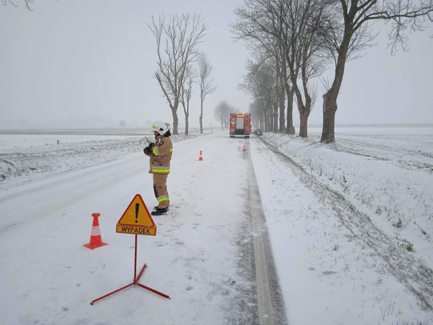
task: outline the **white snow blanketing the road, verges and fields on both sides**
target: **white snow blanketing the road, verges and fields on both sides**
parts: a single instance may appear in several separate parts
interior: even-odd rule
[[[94,306],[132,280],[133,237],[115,223],[136,193],[154,204],[143,134],[0,133],[0,314],[18,324],[258,324],[242,262],[251,156],[289,324],[433,323],[433,125],[337,127],[327,145],[320,131],[173,136],[171,209],[156,237],[139,238],[137,262],[149,265],[143,284],[171,300],[134,287]],[[89,251],[93,212],[109,245]]]

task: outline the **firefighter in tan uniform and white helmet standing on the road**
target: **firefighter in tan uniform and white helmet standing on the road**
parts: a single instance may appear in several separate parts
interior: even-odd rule
[[[170,130],[164,122],[153,123],[155,143],[149,143],[144,148],[144,154],[150,158],[149,173],[153,174],[153,191],[158,205],[151,212],[153,216],[165,214],[170,206],[170,197],[167,192],[167,176],[170,173],[170,160],[173,152],[173,142],[170,139]]]

